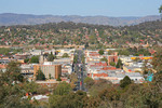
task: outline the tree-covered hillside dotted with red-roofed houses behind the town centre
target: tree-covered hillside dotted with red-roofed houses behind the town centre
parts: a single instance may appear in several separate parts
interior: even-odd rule
[[[35,26],[0,27],[1,45],[65,45],[85,43],[98,46],[162,42],[162,22],[147,22],[135,26],[112,27],[104,25],[50,23]]]

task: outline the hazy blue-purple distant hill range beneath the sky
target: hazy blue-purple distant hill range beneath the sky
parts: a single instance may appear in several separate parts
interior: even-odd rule
[[[108,17],[108,16],[78,16],[78,15],[31,15],[31,14],[0,14],[0,26],[36,25],[46,23],[73,22],[110,26],[137,25],[144,22],[160,19],[159,15],[145,17]]]

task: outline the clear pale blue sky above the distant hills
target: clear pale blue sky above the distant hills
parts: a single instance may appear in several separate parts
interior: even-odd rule
[[[159,15],[162,0],[0,0],[0,13],[81,16]]]

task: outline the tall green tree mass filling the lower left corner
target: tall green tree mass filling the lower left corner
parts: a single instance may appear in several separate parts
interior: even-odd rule
[[[22,98],[26,92],[22,87],[24,79],[19,77],[19,64],[9,63],[6,71],[0,75],[0,108],[32,108],[28,99]]]

